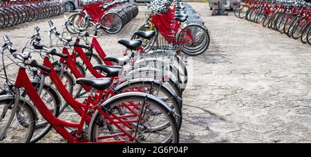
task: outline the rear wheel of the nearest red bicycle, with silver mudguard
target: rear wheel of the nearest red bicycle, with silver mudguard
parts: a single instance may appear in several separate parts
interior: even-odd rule
[[[104,116],[99,111],[95,112],[89,127],[91,142],[179,142],[179,131],[173,114],[170,114],[171,109],[153,95],[121,93],[106,100],[101,107],[102,111],[108,109],[109,113]],[[116,127],[117,124],[106,119],[108,116],[116,116],[126,123]],[[129,133],[129,136],[117,136],[120,133]]]

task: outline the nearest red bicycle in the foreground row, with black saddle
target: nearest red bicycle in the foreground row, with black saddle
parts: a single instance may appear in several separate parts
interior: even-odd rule
[[[1,112],[1,142],[29,142],[32,136],[35,126],[35,110],[33,110],[31,104],[28,104],[27,102],[24,102],[23,104],[20,103],[21,88],[25,89],[26,93],[41,115],[44,116],[44,118],[50,122],[51,126],[66,140],[68,140],[68,142],[147,141],[146,138],[152,137],[151,132],[153,129],[151,129],[152,127],[149,127],[148,129],[142,126],[145,126],[145,122],[148,121],[148,116],[151,116],[151,114],[155,113],[155,111],[157,115],[158,113],[161,113],[161,115],[164,116],[164,118],[161,119],[164,120],[164,122],[169,122],[170,124],[169,128],[171,133],[169,133],[168,138],[162,140],[161,142],[178,142],[178,129],[173,116],[169,113],[170,109],[164,104],[164,102],[162,102],[162,100],[159,100],[153,95],[136,92],[121,93],[109,98],[109,100],[106,100],[103,104],[98,105],[96,102],[101,102],[102,98],[95,96],[95,93],[97,93],[97,91],[104,91],[110,86],[111,80],[109,78],[96,80],[82,78],[77,80],[78,84],[92,86],[92,90],[88,95],[86,104],[75,102],[76,106],[74,109],[79,111],[79,113],[82,113],[82,118],[79,123],[65,122],[64,120],[56,118],[41,100],[26,73],[26,67],[30,66],[32,68],[41,69],[41,73],[48,73],[48,75],[53,76],[53,78],[58,78],[57,73],[53,69],[53,65],[50,64],[50,68],[48,68],[47,66],[37,64],[35,60],[30,59],[29,53],[23,53],[22,55],[16,53],[16,49],[12,48],[12,43],[7,36],[3,37],[3,39],[5,44],[3,44],[1,48],[1,53],[3,54],[3,50],[8,49],[10,53],[15,56],[15,58],[21,60],[23,66],[20,66],[19,68],[14,88],[12,86],[10,88],[15,92],[14,97],[1,95],[0,107],[4,107],[7,111],[12,110],[11,112]],[[48,59],[45,58],[44,60],[44,64],[48,65]],[[5,66],[3,65],[3,67]],[[7,75],[6,79],[8,80]],[[60,86],[62,85],[62,82],[57,82],[57,80],[54,83],[59,84]],[[66,92],[66,89],[64,89],[64,92]],[[66,96],[69,97],[70,94]],[[97,105],[93,106],[92,104]],[[133,105],[134,107],[140,108],[140,111],[137,112],[138,116],[131,116],[131,114],[128,114],[133,113],[131,112],[131,109],[126,108],[130,106],[128,104],[135,104]],[[1,109],[1,111],[3,110]],[[150,111],[152,111],[152,113],[147,113]],[[92,119],[90,121],[91,123],[88,128],[85,128],[85,122],[90,120],[90,113],[92,115]],[[68,127],[76,128],[77,131],[70,132],[66,129]],[[86,129],[88,129],[88,133],[86,133]],[[21,131],[23,133],[21,133]],[[146,132],[149,133],[144,135]],[[12,135],[14,135],[14,139],[18,140],[12,139]],[[159,137],[157,136],[157,138]]]

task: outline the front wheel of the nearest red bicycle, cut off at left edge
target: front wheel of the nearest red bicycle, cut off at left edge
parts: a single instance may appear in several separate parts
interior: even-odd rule
[[[14,116],[6,129],[6,133],[2,138],[0,137],[0,142],[30,142],[32,133],[35,130],[36,118],[36,113],[34,109],[30,107],[30,102],[20,99],[17,111],[12,113],[13,109],[15,109],[14,96],[3,95],[2,97],[0,96],[0,98],[0,136],[1,132],[7,128],[6,125],[10,120],[10,116]],[[3,111],[6,111],[6,113]]]

